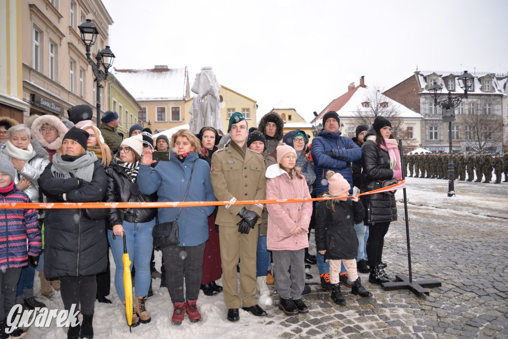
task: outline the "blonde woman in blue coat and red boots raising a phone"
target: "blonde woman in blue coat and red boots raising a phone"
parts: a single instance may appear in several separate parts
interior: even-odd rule
[[[158,201],[215,201],[210,166],[199,159],[201,143],[194,133],[179,130],[171,137],[170,149],[170,161],[159,161],[153,169],[150,167],[155,162],[151,157],[153,150],[145,150],[138,173],[141,193],[149,195],[157,192]],[[174,309],[171,321],[175,325],[182,323],[185,313],[191,322],[201,320],[196,302],[208,240],[208,216],[213,210],[214,206],[158,210],[158,224],[172,222],[178,215],[180,243],[161,246]]]

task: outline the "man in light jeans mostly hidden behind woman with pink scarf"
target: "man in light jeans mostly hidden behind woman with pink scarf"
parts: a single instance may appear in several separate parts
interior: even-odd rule
[[[362,147],[364,142],[365,133],[369,127],[367,125],[359,125],[356,128],[356,137],[351,139],[359,147]],[[360,189],[362,187],[362,162],[353,162],[353,186]],[[361,200],[363,202],[363,199]],[[360,273],[368,273],[370,269],[367,267],[367,252],[365,252],[365,246],[367,245],[367,239],[369,238],[369,227],[363,223],[363,220],[358,224],[355,224],[356,236],[358,238],[358,255],[356,257],[356,267]]]

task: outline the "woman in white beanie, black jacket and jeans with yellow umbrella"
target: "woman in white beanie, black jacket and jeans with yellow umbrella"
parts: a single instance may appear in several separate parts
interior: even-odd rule
[[[154,202],[157,194],[143,194],[139,191],[138,171],[143,152],[143,136],[127,138],[118,147],[115,161],[106,169],[108,189],[106,202]],[[156,208],[110,208],[108,221],[108,240],[115,261],[115,288],[125,308],[123,289],[123,235],[127,243],[129,257],[136,268],[135,293],[133,298],[132,326],[149,323],[151,318],[146,311],[145,302],[150,287],[150,259],[152,255],[152,229],[155,225]],[[113,238],[113,235],[115,238]],[[131,266],[132,269],[132,266]]]

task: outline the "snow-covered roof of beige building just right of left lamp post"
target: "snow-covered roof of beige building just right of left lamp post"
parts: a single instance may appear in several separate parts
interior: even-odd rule
[[[136,100],[184,100],[187,68],[122,69],[111,72]]]

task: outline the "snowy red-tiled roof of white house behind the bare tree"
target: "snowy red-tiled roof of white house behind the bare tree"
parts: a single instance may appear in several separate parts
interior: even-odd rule
[[[358,111],[371,112],[371,108],[363,107],[362,103],[367,101],[367,97],[369,95],[369,91],[371,89],[367,87],[357,86],[354,89],[348,91],[345,95],[335,99],[332,101],[327,108],[323,110],[323,112],[335,111],[339,115],[339,117],[356,117]],[[337,101],[340,101],[342,104],[341,107],[338,107]],[[388,103],[389,108],[396,109],[401,118],[423,118],[422,114],[417,113],[415,111],[410,110],[406,106],[386,97],[386,101]],[[370,103],[372,105],[372,103]],[[321,112],[318,118],[315,121],[315,124],[319,125],[323,122],[324,113]]]

